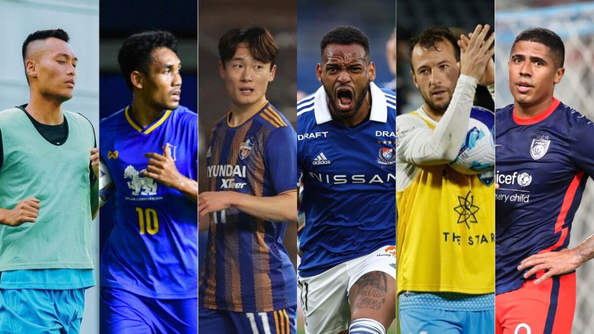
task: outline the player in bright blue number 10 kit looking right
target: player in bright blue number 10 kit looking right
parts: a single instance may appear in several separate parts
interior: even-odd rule
[[[179,105],[177,40],[146,31],[118,62],[132,104],[100,122],[114,184],[114,226],[101,256],[105,333],[196,333],[198,119]]]

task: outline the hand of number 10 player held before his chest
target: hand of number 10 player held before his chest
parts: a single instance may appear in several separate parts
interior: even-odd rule
[[[141,171],[143,177],[150,177],[166,187],[178,189],[184,182],[184,175],[181,175],[175,166],[175,161],[169,152],[169,143],[165,144],[163,155],[159,153],[146,153],[149,159],[146,171]]]

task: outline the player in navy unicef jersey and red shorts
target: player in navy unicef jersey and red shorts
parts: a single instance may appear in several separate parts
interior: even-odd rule
[[[513,105],[497,111],[497,333],[570,333],[575,269],[594,237],[568,249],[571,222],[594,175],[594,125],[555,99],[565,48],[551,30],[511,45]]]

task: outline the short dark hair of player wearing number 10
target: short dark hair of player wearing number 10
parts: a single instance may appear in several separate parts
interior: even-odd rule
[[[169,31],[144,31],[133,34],[124,41],[119,49],[119,70],[130,90],[134,89],[130,74],[134,71],[149,73],[149,65],[153,62],[153,50],[168,48],[178,53],[178,40]]]

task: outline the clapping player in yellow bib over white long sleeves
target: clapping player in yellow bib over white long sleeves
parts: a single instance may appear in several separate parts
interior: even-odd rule
[[[476,85],[494,94],[488,30],[478,25],[458,41],[445,27],[429,27],[410,43],[411,74],[424,103],[396,120],[402,333],[493,332],[493,176],[448,165],[478,111]]]

